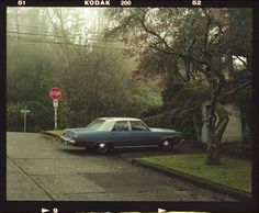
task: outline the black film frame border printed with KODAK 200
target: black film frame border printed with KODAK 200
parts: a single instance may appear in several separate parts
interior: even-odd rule
[[[94,0],[93,0],[94,1]],[[258,87],[257,83],[258,72],[258,61],[256,57],[259,56],[259,37],[258,27],[256,27],[256,22],[259,22],[259,3],[249,0],[202,0],[201,5],[193,5],[193,1],[199,2],[200,0],[131,0],[132,4],[126,7],[184,7],[184,8],[251,8],[252,9],[252,112],[256,115],[256,111],[259,109],[258,104]],[[19,4],[19,2],[21,4]],[[110,0],[110,5],[85,5],[85,0],[5,0],[1,2],[0,20],[1,20],[1,37],[7,36],[7,8],[8,7],[123,7],[121,5],[121,0]],[[0,46],[4,48],[1,49],[1,141],[5,142],[5,100],[7,100],[7,41],[0,40]],[[131,211],[153,211],[157,212],[159,208],[166,209],[168,211],[202,211],[202,212],[259,212],[259,137],[257,135],[257,130],[259,127],[259,122],[254,120],[252,130],[252,198],[250,202],[87,202],[87,201],[7,201],[7,144],[0,143],[0,150],[2,155],[0,156],[0,212],[40,212],[41,208],[55,209],[57,208],[59,212],[131,212]],[[4,173],[2,176],[2,173]]]

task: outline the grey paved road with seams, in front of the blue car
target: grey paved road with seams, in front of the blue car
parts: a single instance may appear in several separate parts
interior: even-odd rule
[[[99,155],[35,133],[7,134],[9,201],[233,201],[130,162],[156,150]]]

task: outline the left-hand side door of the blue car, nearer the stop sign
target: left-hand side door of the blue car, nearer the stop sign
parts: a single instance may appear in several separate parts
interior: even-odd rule
[[[126,147],[131,145],[131,132],[127,121],[115,122],[112,128],[112,143],[114,147]]]

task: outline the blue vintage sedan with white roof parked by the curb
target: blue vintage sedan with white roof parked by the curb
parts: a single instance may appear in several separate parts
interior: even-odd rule
[[[67,145],[95,148],[104,154],[114,148],[159,147],[170,150],[183,142],[183,134],[173,130],[148,127],[133,117],[99,117],[87,127],[64,130]]]

